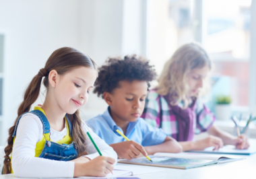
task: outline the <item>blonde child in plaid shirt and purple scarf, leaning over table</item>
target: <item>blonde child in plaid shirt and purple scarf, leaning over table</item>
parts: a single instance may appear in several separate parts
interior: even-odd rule
[[[214,114],[200,102],[199,94],[207,87],[205,79],[212,69],[212,62],[197,43],[181,46],[166,62],[146,99],[142,114],[149,124],[160,127],[183,147],[183,151],[223,145],[236,145],[238,149],[249,147],[245,135],[234,137],[214,125]],[[195,134],[207,131],[205,139],[194,141]]]

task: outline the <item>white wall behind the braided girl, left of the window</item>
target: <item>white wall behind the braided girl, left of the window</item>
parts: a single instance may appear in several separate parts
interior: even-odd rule
[[[71,46],[98,66],[108,56],[137,52],[144,55],[145,0],[0,0],[0,33],[5,34],[4,106],[0,145],[17,117],[18,106],[32,77],[51,53]],[[142,16],[141,16],[142,15]],[[42,103],[43,96],[37,103]],[[106,109],[104,100],[90,94],[82,118]],[[0,129],[0,130],[1,130]]]

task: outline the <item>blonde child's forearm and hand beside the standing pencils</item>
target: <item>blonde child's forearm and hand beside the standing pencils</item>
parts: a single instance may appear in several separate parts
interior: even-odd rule
[[[250,146],[248,137],[246,135],[235,137],[229,133],[226,133],[225,131],[218,129],[218,127],[215,125],[212,125],[212,127],[207,132],[210,135],[220,137],[223,140],[224,145],[236,145],[237,149],[247,149]]]

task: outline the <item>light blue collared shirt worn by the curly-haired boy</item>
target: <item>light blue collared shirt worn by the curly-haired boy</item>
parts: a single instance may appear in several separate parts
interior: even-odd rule
[[[109,107],[103,114],[87,120],[88,126],[108,145],[126,141],[117,133],[117,129],[122,133],[123,130],[117,126],[108,110],[110,110]],[[167,137],[161,129],[150,126],[143,118],[137,118],[135,122],[129,122],[125,135],[131,141],[135,141],[142,146],[158,145],[163,143]]]

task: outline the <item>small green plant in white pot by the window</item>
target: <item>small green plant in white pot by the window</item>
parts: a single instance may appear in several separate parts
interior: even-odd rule
[[[218,120],[229,120],[231,116],[230,96],[217,96],[216,98],[216,118]]]

